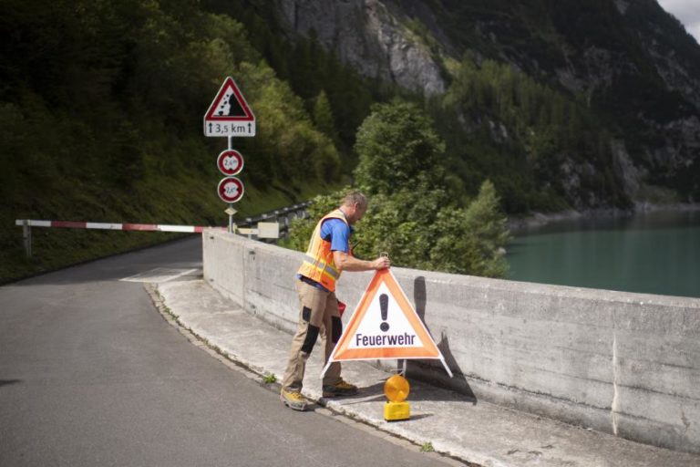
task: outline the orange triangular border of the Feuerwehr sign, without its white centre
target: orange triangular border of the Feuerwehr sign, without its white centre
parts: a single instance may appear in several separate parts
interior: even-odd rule
[[[396,304],[399,306],[404,316],[407,317],[408,323],[413,327],[413,330],[423,343],[422,346],[406,348],[348,348],[351,338],[355,336],[357,327],[360,326],[360,323],[367,314],[369,305],[374,300],[379,290],[379,285],[382,283],[386,285],[386,288],[396,301]],[[435,341],[430,337],[427,328],[420,320],[420,317],[418,317],[416,310],[408,301],[401,286],[396,282],[396,277],[394,277],[389,269],[378,270],[372,278],[372,281],[367,285],[365,294],[360,298],[360,303],[355,308],[355,313],[353,313],[353,317],[350,318],[350,322],[343,336],[335,345],[328,362],[330,364],[332,361],[368,360],[377,358],[439,358],[443,360],[444,363],[444,358],[438,346],[435,345]]]

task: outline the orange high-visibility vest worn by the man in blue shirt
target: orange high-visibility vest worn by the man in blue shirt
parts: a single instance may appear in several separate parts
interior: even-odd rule
[[[333,261],[333,252],[331,251],[331,243],[321,238],[321,225],[328,219],[340,219],[347,224],[345,214],[336,209],[333,213],[328,213],[321,219],[314,229],[314,234],[311,236],[309,247],[306,250],[304,263],[297,272],[309,279],[323,285],[329,291],[335,291],[335,282],[340,277],[340,270],[335,266]],[[348,248],[348,254],[352,254],[352,250]]]

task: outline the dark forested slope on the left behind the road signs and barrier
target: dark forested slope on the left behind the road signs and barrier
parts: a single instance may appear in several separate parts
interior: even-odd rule
[[[167,238],[34,229],[26,261],[15,219],[225,224],[216,157],[227,141],[205,138],[202,117],[226,76],[259,121],[236,141],[242,216],[341,182],[350,162],[335,126],[314,121],[231,16],[185,0],[0,3],[0,281]],[[368,109],[367,96],[355,105]]]

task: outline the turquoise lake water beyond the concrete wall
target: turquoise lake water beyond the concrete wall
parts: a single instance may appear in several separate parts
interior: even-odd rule
[[[560,221],[514,235],[512,280],[700,297],[700,211]]]

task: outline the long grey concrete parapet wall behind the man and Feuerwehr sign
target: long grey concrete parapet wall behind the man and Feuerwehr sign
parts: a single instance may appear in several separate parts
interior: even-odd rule
[[[203,233],[205,279],[290,333],[302,258]],[[409,379],[457,389],[474,402],[700,453],[700,299],[392,271],[455,373],[449,379],[438,361],[411,361]],[[336,293],[348,311],[371,277],[343,275]]]

